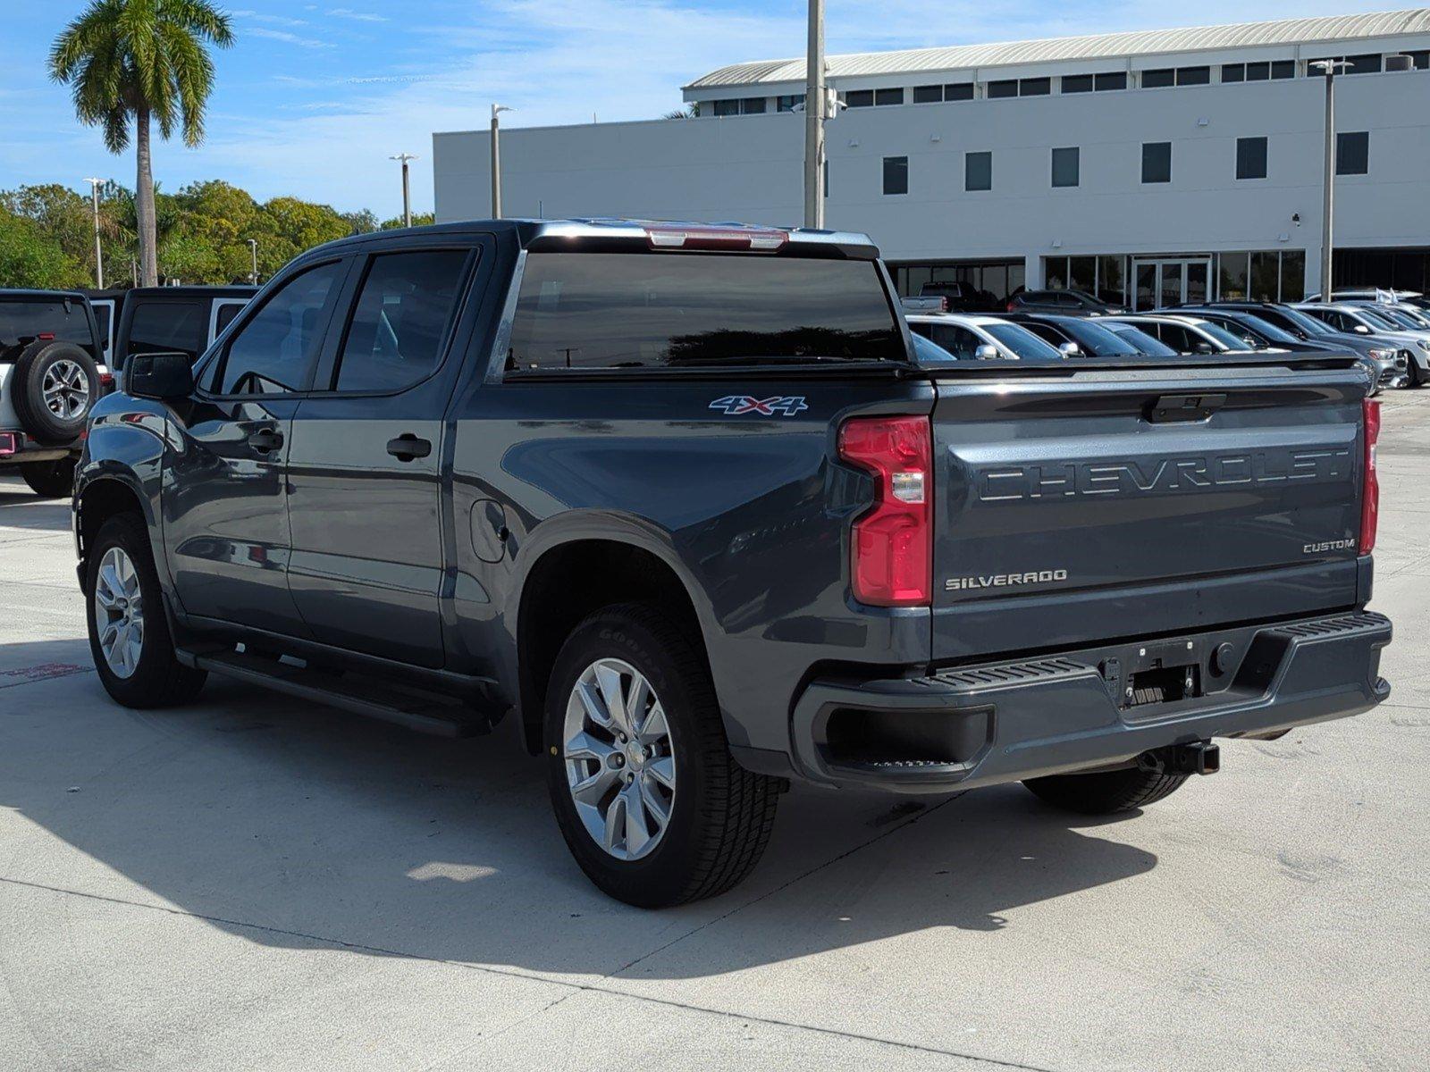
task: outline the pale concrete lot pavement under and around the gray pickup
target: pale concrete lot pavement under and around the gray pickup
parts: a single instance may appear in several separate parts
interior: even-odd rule
[[[6,480],[0,1066],[1430,1065],[1430,392],[1383,397],[1389,703],[1115,822],[797,789],[749,882],[661,913],[579,873],[509,728],[114,706],[69,509]]]

